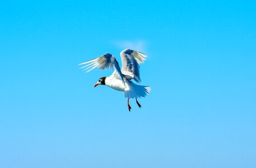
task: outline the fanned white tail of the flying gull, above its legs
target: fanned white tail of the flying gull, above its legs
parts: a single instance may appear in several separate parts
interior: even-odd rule
[[[150,94],[151,87],[150,86],[141,86],[136,85],[133,82],[129,82],[129,84],[125,84],[124,96],[128,99],[146,97]]]

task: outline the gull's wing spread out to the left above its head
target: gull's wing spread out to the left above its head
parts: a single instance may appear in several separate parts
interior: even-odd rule
[[[122,74],[119,64],[117,62],[117,59],[115,59],[114,55],[112,55],[110,53],[106,53],[104,55],[101,55],[98,58],[89,60],[87,62],[78,64],[78,65],[80,66],[80,65],[84,65],[84,64],[85,64],[85,66],[83,66],[81,68],[85,68],[85,69],[83,69],[83,71],[87,70],[86,72],[90,72],[92,69],[94,69],[96,67],[98,67],[99,69],[115,68],[115,70],[119,74],[120,78],[124,82],[123,74]]]

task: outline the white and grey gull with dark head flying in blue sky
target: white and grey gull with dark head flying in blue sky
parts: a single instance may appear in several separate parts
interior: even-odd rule
[[[123,91],[124,96],[128,99],[127,106],[128,110],[131,111],[131,106],[129,105],[129,99],[136,99],[136,103],[139,108],[142,106],[138,102],[138,98],[146,97],[150,94],[150,86],[137,85],[132,80],[137,83],[141,82],[141,77],[139,76],[139,64],[146,60],[147,55],[137,52],[131,49],[124,49],[120,53],[122,59],[122,69],[119,67],[117,59],[115,59],[113,54],[105,53],[98,58],[91,59],[87,62],[78,64],[78,66],[83,66],[81,69],[86,72],[90,72],[96,67],[99,69],[114,68],[114,72],[109,77],[101,77],[94,85],[105,85],[113,88],[117,91]]]

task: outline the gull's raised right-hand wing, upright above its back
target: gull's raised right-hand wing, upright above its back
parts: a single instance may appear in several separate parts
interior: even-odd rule
[[[134,79],[136,82],[141,82],[139,77],[139,63],[143,63],[146,60],[147,55],[136,52],[134,50],[125,49],[121,53],[122,59],[122,73],[129,79]]]

